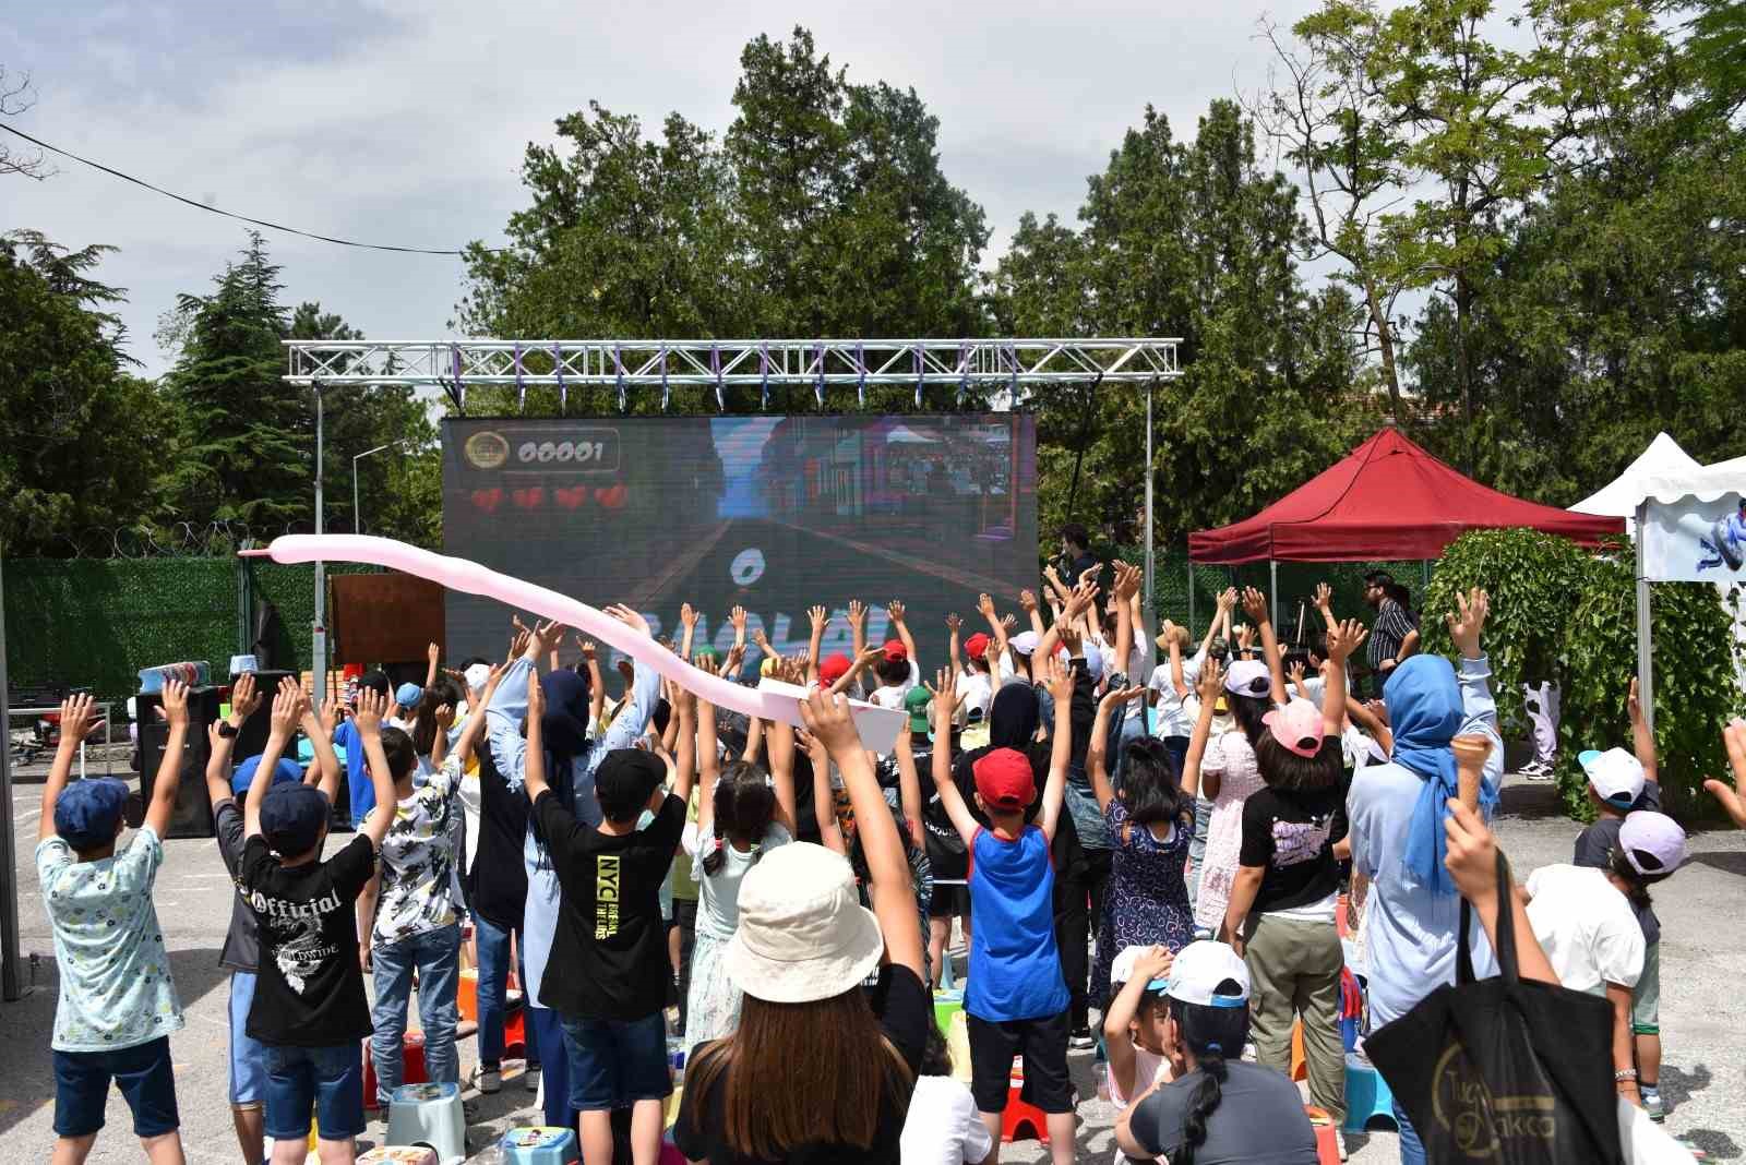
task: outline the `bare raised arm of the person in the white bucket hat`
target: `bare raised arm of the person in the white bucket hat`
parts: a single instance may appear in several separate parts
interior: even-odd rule
[[[849,701],[810,692],[800,705],[807,729],[829,750],[856,809],[861,853],[868,862],[868,896],[885,937],[885,961],[922,978],[922,928],[915,923],[915,888],[897,823],[885,806],[868,750],[856,732]]]

